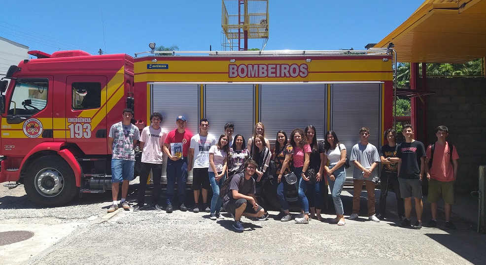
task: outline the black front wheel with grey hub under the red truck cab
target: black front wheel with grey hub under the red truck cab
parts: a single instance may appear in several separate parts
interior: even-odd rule
[[[27,166],[24,188],[29,199],[43,207],[68,203],[76,196],[74,172],[58,156],[44,156]]]

